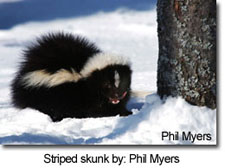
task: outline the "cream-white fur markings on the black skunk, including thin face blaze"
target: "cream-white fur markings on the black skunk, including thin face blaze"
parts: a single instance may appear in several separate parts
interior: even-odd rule
[[[66,82],[77,82],[82,78],[89,77],[91,73],[96,70],[102,70],[107,66],[117,64],[130,65],[130,61],[127,58],[121,56],[98,53],[88,59],[88,61],[80,72],[76,72],[72,68],[71,71],[66,69],[59,69],[53,74],[47,72],[44,69],[36,70],[24,75],[24,77],[22,78],[22,82],[26,87],[53,87]],[[118,87],[120,80],[118,72],[117,74],[115,74],[115,79],[115,86]]]

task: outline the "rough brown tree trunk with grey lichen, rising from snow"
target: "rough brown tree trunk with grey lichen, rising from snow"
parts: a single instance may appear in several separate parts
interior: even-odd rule
[[[158,0],[157,21],[158,94],[216,108],[216,1]]]

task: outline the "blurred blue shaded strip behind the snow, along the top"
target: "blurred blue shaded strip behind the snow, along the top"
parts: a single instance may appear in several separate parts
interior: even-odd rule
[[[119,8],[137,11],[155,7],[156,0],[0,0],[0,29],[30,21],[47,21],[112,12]]]

